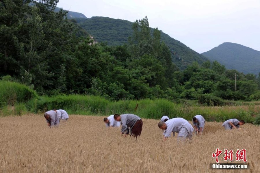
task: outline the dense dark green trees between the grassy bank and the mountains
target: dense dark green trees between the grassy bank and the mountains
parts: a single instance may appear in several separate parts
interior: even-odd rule
[[[54,11],[57,2],[0,2],[1,80],[23,83],[40,95],[89,94],[116,101],[166,98],[218,105],[223,99],[260,98],[259,76],[227,70],[217,61],[180,70],[147,17],[133,23],[123,46],[95,44],[92,33],[68,20],[66,11]]]

